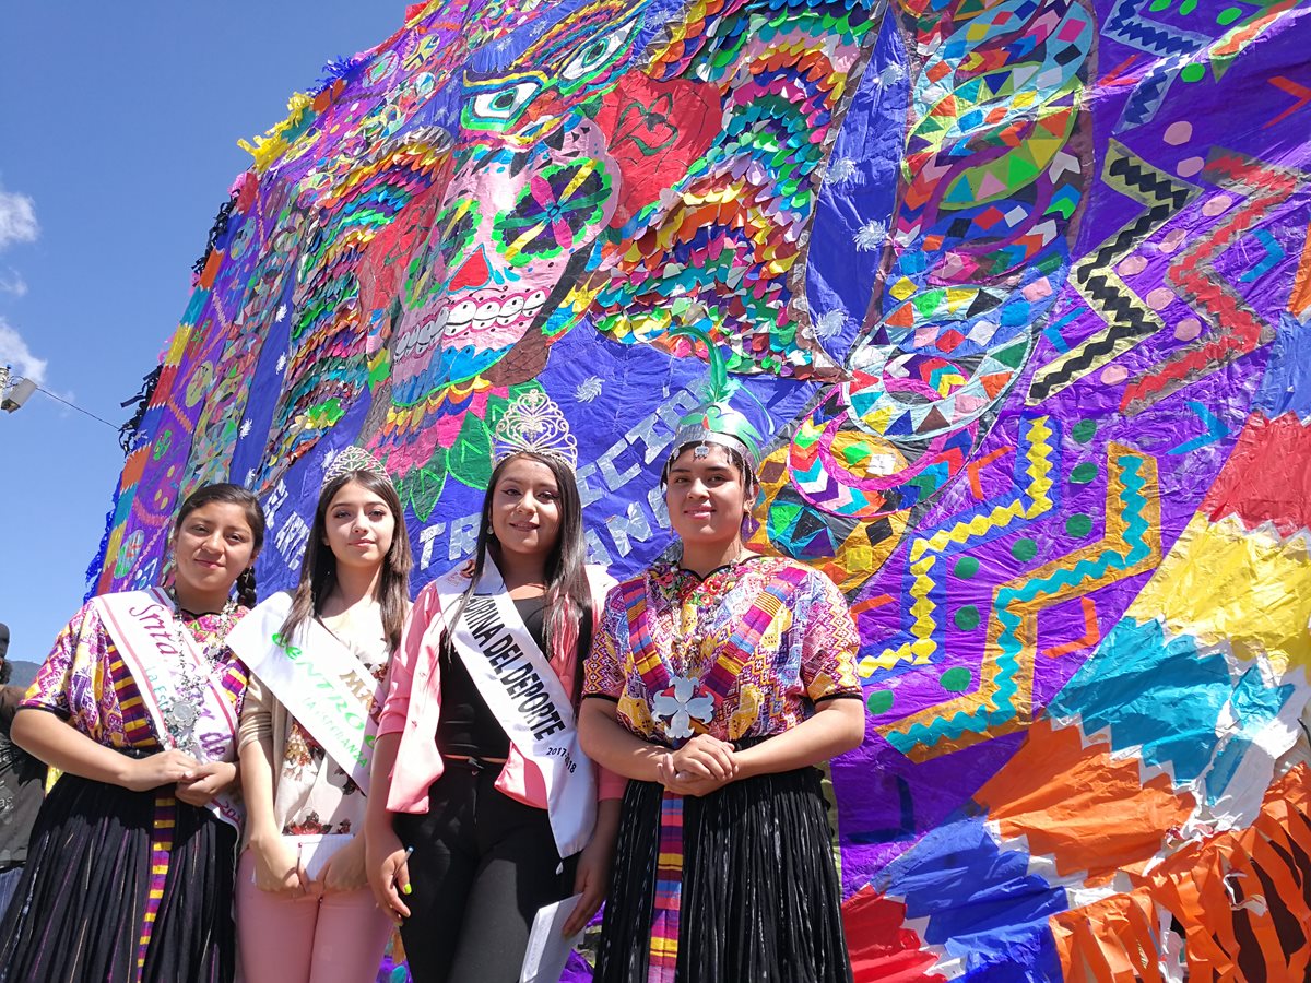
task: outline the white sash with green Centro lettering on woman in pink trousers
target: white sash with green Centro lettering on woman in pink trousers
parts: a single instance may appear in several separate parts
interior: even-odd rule
[[[382,709],[378,680],[315,619],[302,621],[290,644],[282,638],[290,609],[291,595],[274,594],[241,619],[228,645],[367,796]]]

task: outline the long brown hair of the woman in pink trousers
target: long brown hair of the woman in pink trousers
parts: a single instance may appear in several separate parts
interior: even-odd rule
[[[374,594],[374,599],[382,608],[387,645],[396,650],[401,644],[405,606],[409,603],[409,573],[414,558],[410,554],[409,530],[405,528],[405,510],[401,507],[401,499],[391,481],[371,471],[347,471],[324,482],[323,492],[319,493],[319,505],[315,507],[315,523],[309,530],[309,540],[305,543],[305,556],[300,561],[300,582],[296,585],[295,594],[291,595],[291,611],[287,612],[287,620],[282,623],[282,637],[290,640],[307,619],[316,616],[323,609],[323,603],[332,590],[332,582],[337,578],[337,557],[332,548],[324,543],[328,536],[328,506],[332,505],[337,493],[351,481],[370,494],[382,498],[383,505],[396,520],[396,527],[392,531],[392,545],[387,550],[387,556],[383,557],[383,571],[382,577],[378,578]]]

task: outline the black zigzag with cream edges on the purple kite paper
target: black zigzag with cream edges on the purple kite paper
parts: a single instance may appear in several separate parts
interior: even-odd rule
[[[1179,214],[1200,190],[1133,156],[1114,140],[1106,149],[1103,180],[1147,210],[1075,266],[1070,278],[1075,290],[1106,326],[1034,372],[1027,398],[1030,406],[1067,389],[1165,326],[1160,315],[1138,299],[1113,266]]]

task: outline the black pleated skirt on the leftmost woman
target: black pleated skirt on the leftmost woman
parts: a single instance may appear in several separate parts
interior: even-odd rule
[[[227,983],[236,844],[208,810],[64,775],[0,924],[0,983]]]

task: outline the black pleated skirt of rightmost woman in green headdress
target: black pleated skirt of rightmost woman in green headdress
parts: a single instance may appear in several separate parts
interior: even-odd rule
[[[646,983],[662,797],[628,782],[597,983]],[[684,800],[679,983],[851,983],[830,836],[815,768]]]

